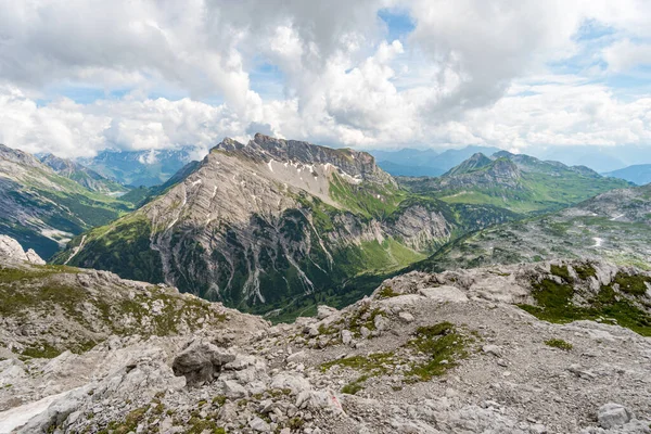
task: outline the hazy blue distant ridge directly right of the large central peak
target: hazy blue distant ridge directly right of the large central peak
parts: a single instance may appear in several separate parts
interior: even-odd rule
[[[499,148],[465,146],[459,150],[403,149],[400,151],[369,151],[375,156],[378,165],[393,176],[439,176],[459,165],[473,154],[490,155]]]

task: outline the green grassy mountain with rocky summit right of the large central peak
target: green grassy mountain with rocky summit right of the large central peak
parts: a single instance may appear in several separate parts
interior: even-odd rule
[[[629,186],[585,166],[569,167],[507,151],[490,157],[474,154],[438,178],[398,180],[413,193],[447,203],[489,204],[522,214],[559,209]]]

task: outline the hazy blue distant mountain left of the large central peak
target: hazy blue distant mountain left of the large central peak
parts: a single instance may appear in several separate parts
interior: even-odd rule
[[[177,150],[103,151],[78,163],[102,176],[125,186],[153,187],[167,181],[192,161],[196,150],[191,146]]]

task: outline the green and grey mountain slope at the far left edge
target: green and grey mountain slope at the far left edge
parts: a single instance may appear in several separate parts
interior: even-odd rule
[[[0,234],[50,258],[74,235],[105,225],[132,204],[63,177],[34,155],[0,144]]]

